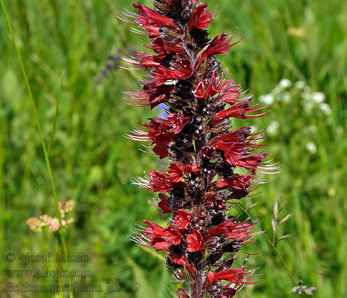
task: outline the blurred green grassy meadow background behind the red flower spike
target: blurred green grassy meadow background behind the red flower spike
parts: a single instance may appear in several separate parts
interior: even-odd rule
[[[58,199],[75,202],[67,216],[74,218],[66,229],[68,252],[84,252],[89,260],[71,263],[70,269],[91,271],[91,277],[74,277],[72,283],[106,289],[108,283],[136,282],[141,286],[138,292],[125,289],[107,297],[162,298],[162,290],[167,293],[163,280],[172,290],[178,287],[164,267],[164,255],[139,247],[127,236],[143,219],[162,225],[167,219],[146,203],[152,194],[130,182],[143,171],[166,167],[166,161],[139,151],[139,143],[122,137],[134,121],[160,113],[128,106],[122,99],[121,91],[140,87],[141,76],[118,68],[119,56],[143,51],[147,43],[146,36],[130,32],[131,25],[116,18],[123,7],[134,11],[131,2],[4,1],[47,144],[60,76],[66,71],[51,163]],[[152,7],[150,0],[140,2]],[[265,129],[269,138],[264,142],[271,144],[266,150],[284,171],[270,175],[269,184],[259,188],[261,194],[231,211],[246,211],[259,220],[258,229],[266,230],[246,249],[262,252],[250,256],[247,266],[260,267],[257,272],[265,281],[244,287],[239,297],[295,297],[290,289],[301,279],[317,287],[316,298],[345,298],[347,2],[207,2],[210,10],[216,5],[219,10],[210,37],[236,28],[247,35],[229,55],[218,57],[229,70],[227,76],[243,90],[249,88],[255,103],[268,103],[272,110],[266,117],[234,124]],[[55,262],[24,265],[18,259],[6,262],[5,255],[55,254],[58,238],[45,229],[34,232],[26,224],[28,218],[55,217],[56,212],[28,92],[2,12],[0,32],[0,297],[61,297],[6,292],[8,282],[58,284],[57,277],[11,278],[5,272],[56,270]],[[281,194],[282,202],[288,203],[279,213],[281,204],[276,208],[276,202]],[[245,257],[238,256],[241,262]]]

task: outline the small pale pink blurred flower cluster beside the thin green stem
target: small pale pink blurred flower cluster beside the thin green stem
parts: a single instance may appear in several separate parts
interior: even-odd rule
[[[61,225],[63,228],[66,228],[70,224],[74,222],[73,218],[65,219],[66,213],[73,210],[75,207],[75,201],[68,200],[66,202],[64,201],[58,201],[58,208],[60,212],[61,217]],[[50,233],[58,232],[59,231],[59,220],[58,218],[53,218],[48,216],[47,214],[41,215],[39,218],[32,217],[28,218],[26,220],[26,224],[29,226],[29,228],[34,231],[42,231],[42,229],[47,228],[47,230]]]

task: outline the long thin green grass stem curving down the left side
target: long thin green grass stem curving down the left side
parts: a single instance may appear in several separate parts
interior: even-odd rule
[[[19,64],[20,64],[20,67],[21,67],[21,70],[22,70],[22,73],[23,73],[23,76],[24,76],[25,84],[26,84],[26,87],[28,89],[29,98],[30,98],[30,102],[31,102],[31,105],[32,105],[32,108],[33,108],[36,125],[37,125],[37,128],[39,130],[39,134],[40,134],[40,139],[41,139],[41,143],[42,143],[42,149],[43,149],[44,154],[45,154],[48,174],[50,176],[50,182],[51,182],[52,192],[53,192],[53,196],[54,196],[54,202],[55,202],[55,205],[56,205],[58,221],[59,221],[60,240],[61,240],[62,248],[63,248],[63,251],[64,251],[65,255],[68,255],[67,254],[67,249],[66,249],[65,235],[64,235],[64,232],[63,232],[63,229],[62,229],[62,225],[61,225],[61,217],[60,217],[60,212],[59,212],[59,208],[58,208],[58,199],[57,199],[57,193],[56,193],[56,186],[54,184],[53,175],[52,175],[51,162],[50,162],[48,151],[47,151],[47,148],[46,148],[46,145],[45,145],[45,141],[44,141],[44,138],[43,138],[43,135],[42,135],[42,129],[41,129],[39,117],[37,115],[37,110],[36,110],[34,98],[33,98],[33,95],[31,93],[31,88],[30,88],[30,85],[29,85],[28,77],[27,77],[27,74],[25,72],[25,69],[24,69],[24,66],[23,66],[23,62],[22,62],[22,58],[20,56],[20,53],[19,53],[16,41],[15,41],[15,38],[14,38],[14,35],[13,35],[12,27],[11,27],[11,24],[10,24],[10,22],[8,20],[8,17],[7,17],[5,6],[3,5],[3,1],[2,0],[0,0],[0,3],[1,3],[3,14],[4,14],[5,19],[6,19],[7,27],[9,29],[10,33],[11,33],[11,37],[12,37],[14,48],[15,48],[15,50],[17,52],[17,56],[18,56]],[[70,272],[70,270],[69,270],[69,263],[68,262],[66,263],[66,270],[67,270],[67,272]],[[72,289],[72,287],[71,287],[71,285],[72,285],[71,284],[71,277],[69,275],[67,277],[67,280],[68,280],[68,284],[69,284],[69,295],[70,295],[70,298],[73,298],[73,293],[71,291],[71,289]]]

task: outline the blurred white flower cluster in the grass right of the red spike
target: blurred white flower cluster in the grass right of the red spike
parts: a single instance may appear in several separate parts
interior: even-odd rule
[[[271,105],[277,113],[276,120],[263,121],[270,138],[296,140],[297,148],[305,148],[314,155],[318,151],[320,126],[332,124],[332,108],[323,92],[313,92],[303,81],[291,82],[283,78],[271,92],[259,96],[259,102]],[[256,130],[256,126],[252,130]],[[276,151],[276,149],[274,149]]]

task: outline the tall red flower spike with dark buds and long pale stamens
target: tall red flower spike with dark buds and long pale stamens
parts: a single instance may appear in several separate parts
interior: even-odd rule
[[[225,79],[215,55],[226,54],[239,42],[225,32],[209,39],[206,28],[214,13],[198,0],[154,0],[154,9],[139,2],[138,13],[119,17],[137,24],[132,28],[148,35],[155,54],[135,52],[123,57],[124,68],[151,70],[141,90],[126,92],[129,104],[167,106],[167,119],[153,117],[134,128],[131,140],[149,142],[154,154],[168,157],[166,172],[150,171],[136,177],[140,187],[159,192],[150,202],[172,214],[166,227],[144,221],[135,242],[167,251],[166,265],[189,289],[179,288],[179,298],[230,298],[244,284],[256,283],[246,267],[231,268],[237,251],[257,233],[254,224],[227,215],[235,200],[257,188],[256,172],[277,167],[262,162],[267,153],[254,153],[264,145],[262,133],[249,127],[235,129],[231,118],[254,118],[263,105],[252,105],[251,96],[240,94],[240,85]],[[236,168],[248,174],[235,173]],[[261,175],[261,174],[260,174]],[[252,231],[253,230],[253,231]]]

